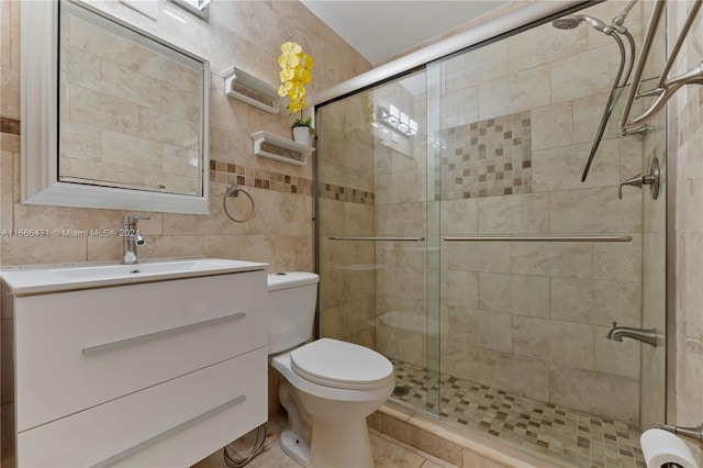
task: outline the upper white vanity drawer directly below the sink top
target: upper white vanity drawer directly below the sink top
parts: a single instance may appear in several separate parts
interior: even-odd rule
[[[15,298],[18,432],[266,346],[265,301],[264,270]]]

